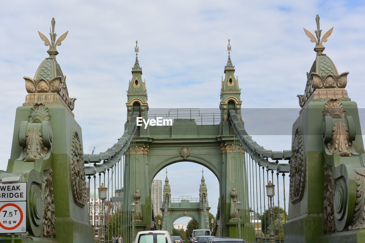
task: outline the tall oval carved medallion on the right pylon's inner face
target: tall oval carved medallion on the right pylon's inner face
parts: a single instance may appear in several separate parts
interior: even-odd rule
[[[306,180],[306,165],[304,160],[303,135],[301,127],[297,127],[292,144],[290,159],[290,187],[289,196],[292,204],[301,201]]]

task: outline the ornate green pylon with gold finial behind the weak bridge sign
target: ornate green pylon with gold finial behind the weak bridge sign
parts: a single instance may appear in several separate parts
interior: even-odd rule
[[[74,119],[76,98],[70,98],[66,76],[59,66],[55,20],[49,46],[34,78],[24,77],[27,95],[16,109],[7,170],[1,182],[27,182],[27,232],[16,242],[93,242],[89,224],[81,127]],[[0,240],[11,242],[9,235]]]

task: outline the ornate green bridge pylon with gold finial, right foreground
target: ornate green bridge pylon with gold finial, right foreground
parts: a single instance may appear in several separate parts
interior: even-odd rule
[[[364,143],[357,104],[347,94],[348,72],[338,73],[323,53],[319,16],[316,57],[301,111],[293,124],[288,223],[285,242],[364,242]]]

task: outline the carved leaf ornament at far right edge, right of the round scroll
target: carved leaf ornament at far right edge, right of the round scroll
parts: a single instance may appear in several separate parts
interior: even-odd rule
[[[365,169],[356,169],[355,183],[356,183],[356,200],[355,212],[352,223],[349,229],[364,229],[365,228]]]

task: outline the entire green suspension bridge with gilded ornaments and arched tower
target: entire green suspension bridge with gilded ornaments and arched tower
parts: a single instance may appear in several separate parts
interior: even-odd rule
[[[338,73],[323,53],[333,28],[322,36],[318,15],[316,23],[315,35],[304,29],[316,55],[304,95],[298,95],[301,110],[290,150],[264,148],[245,130],[228,40],[219,112],[170,109],[164,115],[149,113],[136,42],[124,133],[105,152],[84,154],[73,114],[76,99],[69,97],[56,61],[56,47],[68,32],[56,39],[52,19],[50,40],[39,32],[49,57],[34,78],[24,77],[26,99],[16,110],[7,170],[0,171],[1,184],[26,185],[24,200],[1,197],[0,211],[19,207],[22,213],[12,220],[0,216],[0,242],[111,242],[112,235],[121,234],[132,243],[138,231],[157,227],[151,204],[155,175],[182,161],[199,163],[218,178],[216,236],[246,242],[364,242],[365,152],[358,109],[345,89],[349,73]],[[144,129],[137,126],[139,117],[164,117],[172,124]],[[181,216],[210,228],[203,179],[196,202],[174,202],[166,176],[162,228],[171,230]]]

